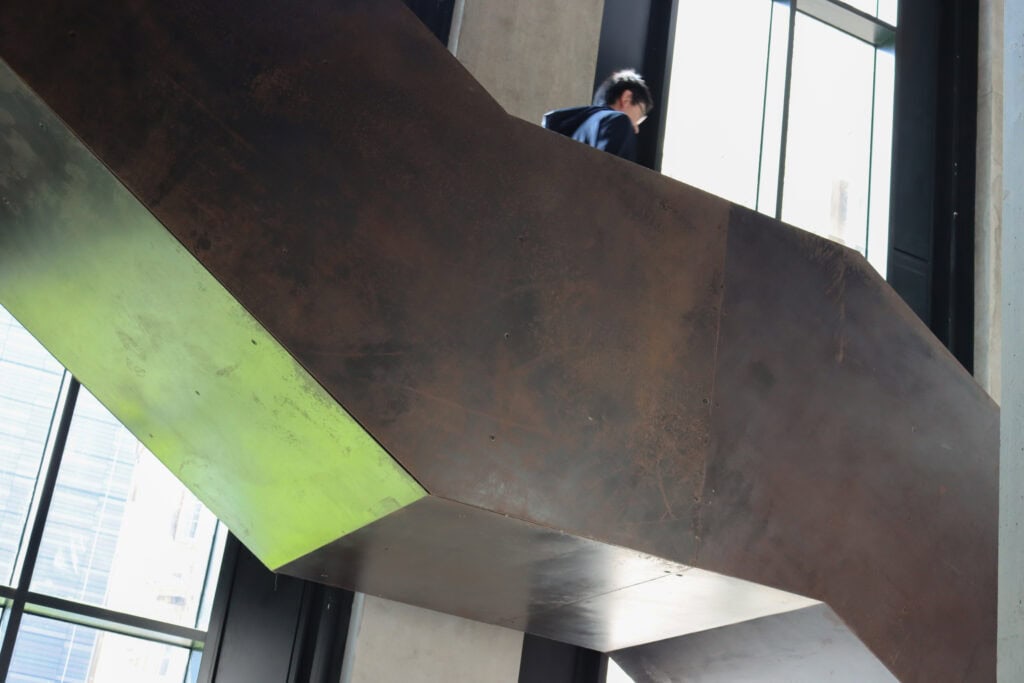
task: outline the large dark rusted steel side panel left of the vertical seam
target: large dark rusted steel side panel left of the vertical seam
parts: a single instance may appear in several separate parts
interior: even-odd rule
[[[4,57],[428,490],[692,558],[726,202],[506,116],[397,3],[5,14]]]

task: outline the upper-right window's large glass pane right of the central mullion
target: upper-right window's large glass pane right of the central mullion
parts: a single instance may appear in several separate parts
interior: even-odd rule
[[[864,253],[874,48],[798,13],[782,220]]]

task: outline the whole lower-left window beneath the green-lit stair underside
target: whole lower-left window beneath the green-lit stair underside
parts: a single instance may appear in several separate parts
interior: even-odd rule
[[[195,681],[223,537],[0,308],[0,681]]]

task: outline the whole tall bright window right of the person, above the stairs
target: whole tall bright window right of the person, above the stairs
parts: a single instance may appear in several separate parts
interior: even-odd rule
[[[663,172],[886,272],[896,0],[679,0]]]

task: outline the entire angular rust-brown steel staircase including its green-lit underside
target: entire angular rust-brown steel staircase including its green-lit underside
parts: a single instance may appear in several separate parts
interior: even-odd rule
[[[993,679],[997,409],[858,255],[397,3],[99,4],[0,6],[0,303],[268,565],[600,649],[793,593]]]

